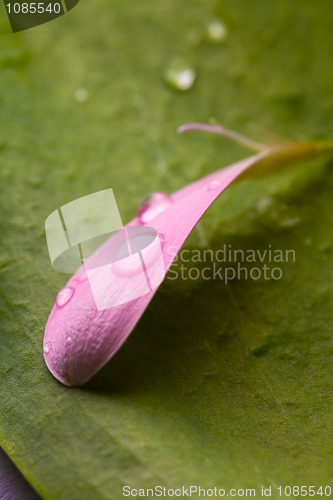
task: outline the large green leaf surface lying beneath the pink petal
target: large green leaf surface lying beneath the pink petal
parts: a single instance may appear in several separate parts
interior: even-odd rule
[[[172,192],[244,155],[218,137],[178,137],[189,121],[213,117],[260,142],[266,131],[331,139],[329,9],[328,0],[96,0],[3,35],[0,444],[43,498],[118,500],[123,485],[259,495],[261,485],[332,483],[324,161],[232,187],[186,245],[293,249],[281,280],[167,278],[81,389],[61,386],[42,356],[67,279],[51,268],[46,217],[112,187],[126,222],[147,192]],[[228,27],[221,44],[207,41],[212,17]],[[188,92],[163,80],[175,57],[198,70]]]

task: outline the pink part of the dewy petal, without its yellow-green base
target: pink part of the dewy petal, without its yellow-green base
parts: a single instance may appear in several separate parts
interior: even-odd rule
[[[175,192],[164,211],[157,211],[155,218],[149,220],[147,225],[154,228],[161,238],[164,260],[162,278],[209,206],[241,173],[264,155],[254,155]],[[135,218],[126,227],[138,225],[140,220]],[[125,342],[157,290],[156,287],[131,300],[136,292],[133,287],[141,285],[131,278],[130,270],[122,275],[121,269],[118,269],[116,279],[106,285],[104,268],[96,269],[96,265],[104,262],[110,252],[114,252],[114,241],[115,237],[111,236],[89,257],[85,269],[80,268],[71,277],[58,295],[59,305],[54,305],[46,324],[45,362],[51,373],[67,386],[84,384],[109,361]],[[119,261],[117,266],[121,267]],[[156,272],[160,273],[161,269]],[[94,290],[101,290],[102,299],[112,299],[113,303],[118,301],[120,305],[98,310],[86,273],[93,276]],[[139,294],[140,290],[137,292]]]

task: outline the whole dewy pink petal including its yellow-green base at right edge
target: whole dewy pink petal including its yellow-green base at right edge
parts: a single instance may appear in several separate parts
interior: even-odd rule
[[[198,128],[194,124],[188,130],[191,127]],[[332,145],[327,149],[331,152]],[[158,193],[157,201],[146,200],[150,214],[140,207],[139,217],[125,226],[126,238],[121,233],[111,236],[59,292],[44,335],[45,362],[55,378],[67,386],[82,385],[110,360],[141,318],[194,226],[230,184],[252,168],[266,171],[318,156],[323,151],[325,147],[313,143],[266,149],[193,182],[170,197]],[[144,256],[147,279],[136,278],[136,269],[142,269],[142,262],[135,252],[130,255],[128,267],[121,259],[116,260],[112,264],[112,279],[107,279],[109,271],[104,262],[118,247],[126,252],[126,246],[134,245],[138,226],[147,226],[144,237],[152,240],[155,231],[159,240],[157,246],[154,243],[155,250]],[[155,258],[158,249],[162,263]],[[95,299],[116,305],[98,310]]]

